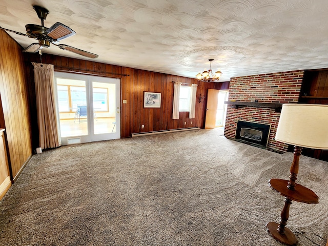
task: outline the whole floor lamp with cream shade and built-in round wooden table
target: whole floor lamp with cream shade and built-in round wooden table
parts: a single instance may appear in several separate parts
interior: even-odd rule
[[[294,146],[294,159],[290,169],[290,180],[270,179],[270,187],[285,197],[280,223],[269,222],[267,229],[271,236],[281,243],[294,245],[295,235],[285,228],[289,219],[292,201],[319,203],[319,197],[296,179],[302,148],[328,149],[328,105],[283,104],[275,139]]]

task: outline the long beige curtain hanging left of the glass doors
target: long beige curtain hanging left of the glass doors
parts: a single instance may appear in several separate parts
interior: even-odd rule
[[[61,141],[57,127],[53,65],[32,64],[34,66],[39,147],[41,149],[59,147]]]

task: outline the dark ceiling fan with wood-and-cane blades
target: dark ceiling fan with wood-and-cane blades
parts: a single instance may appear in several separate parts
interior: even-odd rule
[[[68,50],[75,54],[83,55],[89,58],[98,57],[98,55],[90,53],[88,51],[80,50],[64,44],[58,44],[59,40],[73,36],[76,33],[68,26],[65,26],[64,24],[61,24],[59,22],[56,22],[50,28],[45,27],[44,20],[47,18],[47,14],[49,14],[49,11],[37,5],[34,5],[33,9],[36,11],[39,19],[41,19],[41,26],[35,24],[27,24],[25,26],[26,34],[0,27],[0,29],[3,29],[5,31],[13,32],[18,35],[23,35],[38,40],[38,43],[31,44],[29,47],[23,50],[23,52],[37,52],[44,47],[50,47],[51,43],[62,50]]]

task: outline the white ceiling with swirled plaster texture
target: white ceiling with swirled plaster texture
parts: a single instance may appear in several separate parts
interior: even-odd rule
[[[95,61],[195,77],[231,77],[328,67],[327,0],[0,0],[0,26],[40,25],[32,5],[76,35],[61,40]],[[35,40],[9,33],[24,48]],[[44,53],[82,58],[52,46]]]

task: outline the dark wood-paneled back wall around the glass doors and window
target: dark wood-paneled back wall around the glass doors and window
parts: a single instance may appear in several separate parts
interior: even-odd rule
[[[26,65],[31,61],[40,62],[38,54],[25,54]],[[86,61],[50,54],[42,55],[42,62],[53,64],[55,71],[70,71],[104,77],[121,79],[121,137],[131,137],[132,133],[159,131],[186,127],[204,127],[206,116],[206,98],[204,102],[196,101],[194,119],[189,119],[188,112],[180,112],[179,119],[172,119],[173,91],[172,81],[181,81],[185,84],[198,84],[197,97],[207,97],[208,89],[229,89],[226,83],[203,83],[194,78],[108,65],[96,61]],[[32,73],[30,73],[32,75]],[[126,76],[122,75],[125,74]],[[144,91],[161,93],[161,108],[144,108]],[[127,100],[127,104],[122,104]],[[186,122],[186,125],[185,125]],[[145,128],[141,129],[141,125]]]

